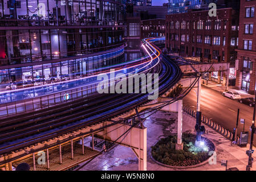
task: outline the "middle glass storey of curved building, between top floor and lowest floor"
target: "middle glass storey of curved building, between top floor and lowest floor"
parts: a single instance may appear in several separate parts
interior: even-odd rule
[[[123,44],[123,32],[121,27],[0,30],[0,65],[105,51]]]

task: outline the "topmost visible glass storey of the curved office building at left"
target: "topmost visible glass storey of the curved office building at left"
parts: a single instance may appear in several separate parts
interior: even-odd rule
[[[124,0],[0,0],[0,26],[123,24]]]

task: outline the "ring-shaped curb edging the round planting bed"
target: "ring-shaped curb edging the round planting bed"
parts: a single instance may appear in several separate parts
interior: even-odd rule
[[[203,137],[203,138],[206,138],[206,137]],[[206,139],[208,139],[208,138],[206,138]],[[210,139],[208,139],[208,140],[210,140]],[[157,141],[157,142],[159,142],[159,141]],[[155,142],[152,146],[155,146],[155,144],[157,142]],[[216,152],[216,144],[212,140],[210,140],[210,142],[213,143],[213,145],[214,145],[214,152]],[[206,163],[209,163],[209,160],[212,160],[214,158],[214,155],[212,155],[212,156],[210,156],[210,158],[206,159],[204,162],[201,162],[201,163],[193,165],[193,166],[169,166],[167,164],[160,163],[156,159],[153,158],[153,156],[151,155],[151,147],[150,147],[150,150],[149,150],[149,155],[150,155],[150,158],[153,160],[153,162],[159,164],[160,166],[164,166],[164,167],[168,167],[168,168],[174,168],[174,169],[197,168],[197,167],[200,167],[200,166],[204,166]]]

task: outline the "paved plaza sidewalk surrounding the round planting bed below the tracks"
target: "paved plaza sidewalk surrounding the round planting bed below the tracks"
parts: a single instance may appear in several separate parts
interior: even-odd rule
[[[192,116],[183,113],[183,125],[182,131],[194,131],[194,125],[196,124],[196,119]],[[204,124],[202,124],[204,125]],[[148,171],[225,171],[225,166],[221,166],[221,160],[228,160],[227,168],[237,167],[239,171],[245,171],[246,165],[248,163],[248,156],[246,155],[246,150],[249,150],[249,144],[246,148],[241,148],[239,146],[231,146],[230,140],[223,137],[221,134],[217,133],[208,126],[205,126],[207,133],[204,137],[209,138],[214,142],[217,153],[217,163],[210,165],[209,163],[197,168],[186,168],[186,169],[174,169],[164,166],[160,166],[155,163],[150,157],[150,148],[159,139],[168,137],[170,134],[177,133],[177,113],[171,113],[167,111],[158,111],[157,113],[151,115],[144,122],[144,126],[147,127],[147,169]],[[255,149],[255,148],[254,148]],[[253,150],[254,150],[253,149]],[[253,157],[255,158],[255,154]],[[256,164],[254,164],[256,165]],[[133,154],[131,148],[124,146],[117,146],[113,150],[106,152],[100,156],[97,156],[91,163],[84,166],[83,170],[117,170],[117,171],[137,171],[138,170],[138,160]],[[251,170],[256,170],[256,166],[253,166]]]

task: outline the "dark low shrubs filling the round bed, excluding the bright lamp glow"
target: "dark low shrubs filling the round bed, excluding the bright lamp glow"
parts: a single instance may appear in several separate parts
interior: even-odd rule
[[[214,144],[210,140],[204,138],[209,151],[214,150]],[[162,138],[151,147],[151,154],[155,160],[160,163],[170,166],[193,166],[204,162],[210,156],[206,151],[199,151],[193,154],[189,151],[191,144],[196,142],[196,135],[191,133],[182,134],[182,141],[184,142],[183,150],[175,150],[177,135],[170,135],[169,137]]]

